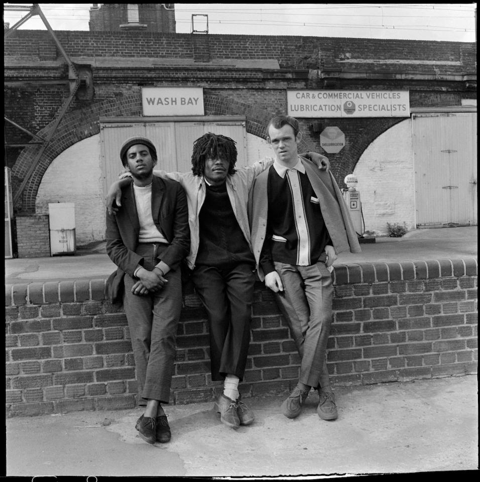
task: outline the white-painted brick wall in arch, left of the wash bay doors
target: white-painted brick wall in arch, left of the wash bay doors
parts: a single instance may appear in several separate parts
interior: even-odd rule
[[[105,238],[100,135],[70,146],[53,160],[38,189],[36,213],[48,214],[49,202],[75,204],[77,246]]]

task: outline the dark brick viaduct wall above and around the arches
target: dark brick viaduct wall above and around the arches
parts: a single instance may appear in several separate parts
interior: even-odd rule
[[[60,152],[98,133],[99,115],[142,115],[141,85],[202,86],[205,89],[206,114],[244,113],[249,132],[258,132],[261,137],[265,135],[265,119],[286,111],[285,90],[324,88],[323,74],[335,77],[342,71],[363,69],[375,74],[383,70],[381,78],[345,78],[341,80],[341,85],[332,85],[343,89],[408,89],[412,106],[460,105],[462,98],[476,95],[466,91],[464,82],[460,81],[461,75],[458,82],[442,80],[438,75],[439,72],[442,75],[475,72],[476,49],[474,44],[469,43],[292,36],[192,36],[153,32],[60,31],[56,35],[71,58],[81,57],[81,62],[86,63],[90,62],[88,59],[98,60],[92,66],[95,94],[91,101],[72,101],[52,142],[29,177],[23,199],[15,206],[17,213],[35,213],[35,197],[46,169]],[[61,54],[48,32],[16,31],[6,39],[4,47],[6,79],[65,79],[65,64],[61,63]],[[113,58],[118,59],[117,65],[102,66],[102,59]],[[122,63],[132,59],[152,62],[143,67],[131,63],[127,67]],[[162,59],[193,63],[189,66],[160,65]],[[212,64],[230,59],[276,60],[280,70],[238,68],[219,65],[218,62]],[[372,62],[366,63],[367,60]],[[393,63],[385,62],[388,60]],[[402,64],[403,60],[415,60],[416,63]],[[355,61],[358,62],[355,64]],[[405,69],[415,75],[406,77]],[[395,77],[393,72],[401,72],[402,75]],[[434,75],[434,80],[418,80],[418,73],[430,73]],[[338,80],[333,79],[332,82]],[[68,95],[67,86],[8,86],[6,114],[19,125],[46,137]],[[213,97],[209,99],[209,95]],[[352,121],[323,118],[322,122],[348,133],[341,153],[331,156],[333,174],[343,179],[352,172],[365,148],[399,119]],[[311,119],[302,119],[302,128],[306,133],[304,144],[308,144],[307,148],[322,152],[318,132],[313,131]],[[7,133],[9,139],[18,136],[17,142],[25,142],[25,133],[19,134],[13,126],[7,125]],[[13,168],[14,192],[34,162],[38,149],[38,145],[31,145],[20,155],[17,148],[7,151],[7,164]]]

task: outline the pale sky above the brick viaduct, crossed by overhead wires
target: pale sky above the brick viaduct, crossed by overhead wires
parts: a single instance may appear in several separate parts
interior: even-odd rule
[[[4,4],[24,5],[32,4]],[[88,30],[93,4],[39,4],[54,30]],[[475,42],[476,4],[175,4],[177,33]],[[4,9],[13,26],[28,12]],[[42,29],[36,16],[21,29]]]

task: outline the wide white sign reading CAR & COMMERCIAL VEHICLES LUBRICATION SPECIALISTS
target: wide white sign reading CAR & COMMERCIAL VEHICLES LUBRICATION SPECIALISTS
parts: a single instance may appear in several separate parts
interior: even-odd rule
[[[287,90],[293,117],[409,117],[408,90]]]

